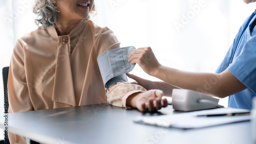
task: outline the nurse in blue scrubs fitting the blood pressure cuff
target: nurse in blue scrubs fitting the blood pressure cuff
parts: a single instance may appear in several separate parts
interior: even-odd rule
[[[243,1],[246,4],[255,2]],[[216,73],[191,73],[166,67],[158,62],[151,47],[142,47],[131,53],[129,62],[138,63],[148,75],[164,82],[127,76],[146,89],[161,89],[165,95],[170,95],[173,88],[190,89],[219,98],[229,97],[228,107],[251,109],[252,98],[256,95],[255,13],[244,21]]]

